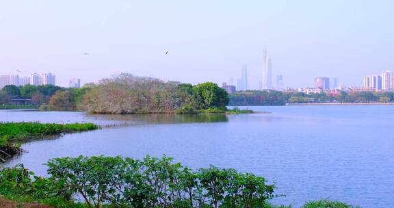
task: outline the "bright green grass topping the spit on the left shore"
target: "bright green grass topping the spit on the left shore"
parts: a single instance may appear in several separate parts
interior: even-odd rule
[[[7,138],[8,142],[23,142],[47,135],[95,129],[99,129],[99,126],[92,123],[42,124],[39,122],[0,122],[0,138]]]

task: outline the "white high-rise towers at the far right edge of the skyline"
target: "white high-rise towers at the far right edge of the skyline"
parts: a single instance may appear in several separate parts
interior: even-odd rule
[[[381,75],[370,75],[363,78],[363,88],[365,90],[394,90],[394,75],[390,70],[384,71]]]

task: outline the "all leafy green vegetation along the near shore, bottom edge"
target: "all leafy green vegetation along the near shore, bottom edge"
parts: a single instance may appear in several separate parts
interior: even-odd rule
[[[0,170],[0,203],[71,208],[291,207],[270,204],[272,198],[284,195],[275,194],[275,185],[267,184],[263,177],[215,166],[192,170],[165,155],[144,159],[63,157],[51,159],[46,165],[49,177],[38,177],[23,165]],[[302,207],[353,206],[315,200]]]

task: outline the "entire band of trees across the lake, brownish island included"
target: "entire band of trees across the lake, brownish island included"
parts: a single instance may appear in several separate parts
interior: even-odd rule
[[[32,99],[49,110],[80,110],[90,113],[194,113],[224,112],[226,105],[285,105],[286,103],[390,103],[394,92],[340,92],[339,94],[247,90],[228,95],[217,84],[162,81],[130,74],[114,75],[83,88],[13,86],[0,90],[0,104],[12,98]]]

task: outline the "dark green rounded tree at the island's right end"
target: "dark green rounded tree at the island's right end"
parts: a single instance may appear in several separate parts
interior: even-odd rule
[[[229,97],[226,90],[220,88],[216,83],[199,83],[193,88],[198,109],[209,109],[210,107],[225,108]]]

